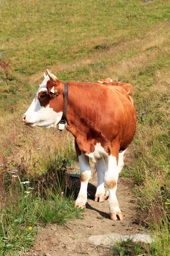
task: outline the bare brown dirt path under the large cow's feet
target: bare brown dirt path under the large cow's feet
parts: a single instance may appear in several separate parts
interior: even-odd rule
[[[78,166],[68,170],[69,173],[79,171]],[[71,178],[75,179],[75,178]],[[79,179],[76,179],[79,186]],[[91,177],[88,185],[88,198],[92,198],[96,192],[97,175]],[[120,209],[124,215],[123,221],[112,221],[109,217],[108,201],[103,203],[88,199],[83,212],[83,219],[71,220],[67,225],[60,227],[56,224],[43,229],[37,235],[37,242],[29,251],[29,256],[77,256],[81,254],[92,256],[108,256],[109,252],[102,247],[90,244],[88,237],[107,233],[135,234],[140,232],[136,221],[136,206],[131,192],[132,181],[128,178],[119,177],[117,198]]]

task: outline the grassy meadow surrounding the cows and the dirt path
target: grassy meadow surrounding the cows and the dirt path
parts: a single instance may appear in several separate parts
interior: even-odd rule
[[[164,0],[1,0],[0,256],[27,250],[40,225],[81,217],[65,177],[77,161],[74,138],[22,123],[46,68],[61,81],[133,85],[138,122],[122,175],[133,179],[141,225],[156,236],[148,255],[169,255],[169,10]]]

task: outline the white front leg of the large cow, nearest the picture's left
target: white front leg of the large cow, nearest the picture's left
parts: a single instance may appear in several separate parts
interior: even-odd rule
[[[84,154],[81,154],[79,156],[79,167],[80,167],[80,180],[81,180],[81,186],[79,195],[76,200],[76,206],[85,208],[85,204],[87,203],[87,187],[88,187],[88,181],[91,177],[91,168],[89,164],[89,157],[85,156]]]

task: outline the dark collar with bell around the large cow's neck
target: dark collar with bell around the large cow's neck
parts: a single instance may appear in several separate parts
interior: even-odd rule
[[[67,104],[68,104],[68,83],[64,83],[64,107],[62,112],[62,118],[59,122],[59,127],[58,127],[59,131],[63,131],[65,129]]]

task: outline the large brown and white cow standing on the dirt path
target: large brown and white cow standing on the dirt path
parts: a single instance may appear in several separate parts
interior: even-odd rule
[[[56,127],[64,107],[64,83],[49,73],[23,115],[27,125]],[[116,88],[116,89],[115,89]],[[123,92],[123,93],[122,93]],[[81,187],[76,206],[85,208],[87,186],[91,177],[89,159],[96,164],[98,184],[95,201],[104,201],[104,180],[108,187],[112,220],[122,219],[116,188],[125,152],[133,140],[136,112],[127,92],[119,86],[68,82],[66,129],[75,137],[79,158]]]

